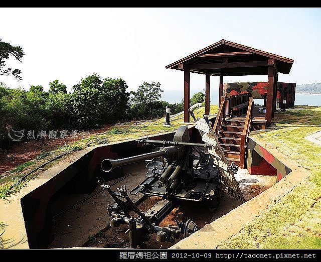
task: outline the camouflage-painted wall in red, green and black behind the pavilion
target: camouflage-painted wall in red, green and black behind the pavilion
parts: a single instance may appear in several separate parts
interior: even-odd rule
[[[282,103],[283,98],[286,100],[286,107],[294,105],[295,100],[295,83],[277,83],[277,103]],[[243,83],[225,83],[223,85],[223,95],[231,96],[236,94],[251,93],[254,99],[264,99],[267,93],[267,82],[243,82]]]

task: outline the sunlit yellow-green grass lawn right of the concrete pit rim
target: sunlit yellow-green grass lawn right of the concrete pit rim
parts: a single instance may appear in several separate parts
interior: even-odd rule
[[[321,147],[304,139],[321,130],[321,107],[275,114],[275,129],[256,135],[311,172],[219,248],[321,248]]]

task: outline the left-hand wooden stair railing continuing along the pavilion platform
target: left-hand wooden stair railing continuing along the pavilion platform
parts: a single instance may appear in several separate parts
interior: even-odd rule
[[[230,97],[221,97],[221,103],[219,104],[219,111],[217,113],[213,130],[215,135],[218,136],[223,120],[226,116],[232,114],[232,107],[249,101],[250,93],[231,95]]]

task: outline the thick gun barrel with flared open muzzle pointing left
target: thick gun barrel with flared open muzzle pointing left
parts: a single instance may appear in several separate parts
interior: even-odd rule
[[[142,154],[139,156],[134,156],[134,157],[129,157],[129,158],[122,158],[122,159],[116,159],[116,160],[104,159],[101,162],[101,169],[104,172],[109,172],[116,167],[132,164],[132,163],[137,163],[137,162],[144,161],[147,159],[156,158],[156,157],[171,156],[171,155],[177,153],[177,151],[178,151],[177,147],[166,147],[166,148],[161,148],[161,149],[159,149],[159,151],[156,151],[156,152],[151,152],[151,153]]]

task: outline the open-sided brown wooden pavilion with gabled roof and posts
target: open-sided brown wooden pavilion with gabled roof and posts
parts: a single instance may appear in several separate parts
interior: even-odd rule
[[[222,39],[184,57],[166,68],[184,71],[184,122],[189,122],[190,74],[205,74],[205,113],[210,112],[210,76],[219,76],[219,105],[223,95],[223,77],[268,75],[266,125],[270,126],[276,110],[278,73],[289,74],[293,60]]]

